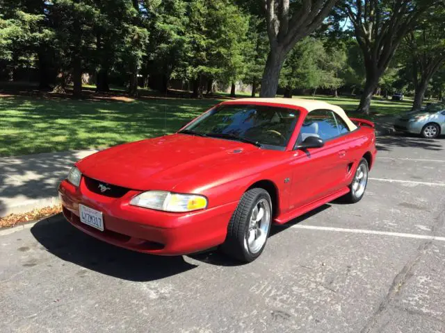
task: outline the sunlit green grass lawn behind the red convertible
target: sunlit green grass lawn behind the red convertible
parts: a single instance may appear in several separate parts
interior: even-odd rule
[[[312,96],[300,96],[312,99]],[[346,111],[357,99],[316,96]],[[0,96],[0,156],[103,148],[172,133],[217,99],[145,99],[130,102]],[[379,114],[398,114],[409,102],[373,101]]]

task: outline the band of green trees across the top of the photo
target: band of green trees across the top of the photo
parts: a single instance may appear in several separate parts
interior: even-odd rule
[[[0,78],[252,96],[442,96],[442,0],[0,0]],[[399,47],[400,46],[400,47]]]

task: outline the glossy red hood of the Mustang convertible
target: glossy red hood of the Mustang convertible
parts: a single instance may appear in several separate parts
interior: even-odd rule
[[[244,154],[262,151],[251,144],[225,139],[174,134],[122,144],[77,162],[85,175],[108,184],[172,191],[202,171],[229,168]]]

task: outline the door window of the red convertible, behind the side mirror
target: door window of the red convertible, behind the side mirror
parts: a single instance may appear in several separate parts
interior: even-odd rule
[[[321,137],[329,140],[339,136],[339,128],[334,113],[330,110],[314,110],[309,112],[303,121],[298,143],[305,141],[307,137]]]

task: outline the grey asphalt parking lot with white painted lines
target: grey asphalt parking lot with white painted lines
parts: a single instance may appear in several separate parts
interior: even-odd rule
[[[445,332],[445,138],[378,139],[364,199],[257,261],[115,248],[60,216],[0,236],[1,332]]]

